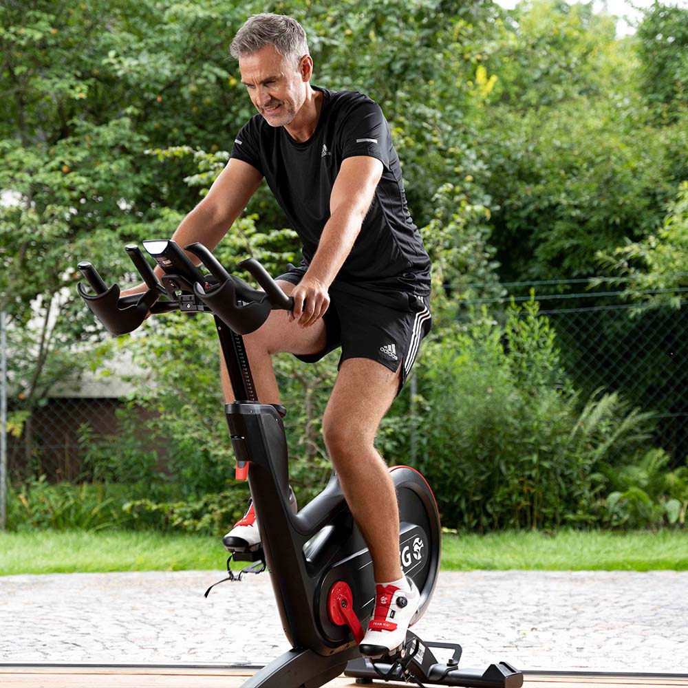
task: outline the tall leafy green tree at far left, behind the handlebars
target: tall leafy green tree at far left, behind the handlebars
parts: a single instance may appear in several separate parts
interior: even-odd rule
[[[20,411],[88,365],[73,344],[97,333],[75,302],[76,262],[121,280],[131,267],[120,246],[137,228],[169,235],[178,216],[162,208],[195,202],[180,160],[164,166],[144,151],[182,136],[211,147],[208,112],[236,113],[219,48],[241,19],[218,5],[0,8],[0,189],[10,201],[0,208],[0,289]]]

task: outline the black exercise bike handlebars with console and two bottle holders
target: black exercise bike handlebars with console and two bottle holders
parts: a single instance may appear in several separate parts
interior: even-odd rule
[[[294,300],[288,297],[254,258],[239,263],[255,277],[264,291],[248,285],[243,279],[230,275],[203,244],[191,244],[186,250],[197,256],[210,275],[194,266],[174,241],[144,241],[144,248],[164,270],[162,282],[136,244],[125,250],[137,272],[148,287],[146,292],[120,296],[118,284],[107,286],[98,270],[89,261],[82,261],[78,269],[89,283],[93,294],[83,283],[76,289],[96,318],[111,334],[126,334],[136,330],[151,313],[181,310],[186,313],[210,311],[237,334],[257,330],[271,310],[292,310]],[[212,276],[212,277],[211,277]],[[161,299],[169,300],[161,300]]]

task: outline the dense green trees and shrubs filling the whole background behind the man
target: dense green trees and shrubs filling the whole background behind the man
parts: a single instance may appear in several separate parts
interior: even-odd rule
[[[688,10],[658,2],[626,39],[592,4],[563,0],[509,12],[490,0],[3,3],[0,292],[11,319],[10,427],[26,464],[33,411],[125,347],[149,372],[127,404],[155,413],[142,431],[125,407],[109,438],[84,427],[83,479],[129,484],[122,523],[209,532],[241,510],[211,325],[157,319],[143,336],[110,340],[76,301],[74,266],[89,258],[107,281],[130,282],[122,245],[171,235],[206,193],[252,114],[228,44],[261,11],[302,21],[314,83],[382,105],[433,259],[434,331],[417,398],[405,391],[380,431],[387,460],[429,474],[452,527],[685,523],[688,438],[667,430],[685,424],[685,398],[666,391],[660,410],[671,418],[650,422],[649,401],[627,400],[632,367],[596,389],[572,363],[576,343],[534,302],[503,305],[510,281],[596,276],[617,279],[633,303],[668,301],[682,313]],[[255,255],[282,270],[299,250],[284,224],[261,188],[219,257],[232,268]],[[491,310],[466,319],[468,299]],[[632,338],[628,313],[602,328],[600,368],[614,337]],[[657,336],[681,331],[669,316]],[[633,361],[646,389],[665,389],[662,362]],[[320,418],[336,356],[276,366],[303,502],[329,471]],[[679,438],[671,446],[669,435]],[[164,443],[164,466],[150,438]],[[91,493],[69,489],[20,486],[14,504],[25,506],[13,513],[77,524],[74,500]],[[74,518],[51,521],[58,503]],[[36,504],[54,509],[39,517]]]

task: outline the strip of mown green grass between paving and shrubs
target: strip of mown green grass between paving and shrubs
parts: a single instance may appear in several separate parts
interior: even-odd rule
[[[224,569],[218,538],[38,530],[0,533],[0,575]],[[238,567],[237,567],[238,568]],[[442,569],[688,570],[688,530],[444,535]]]

